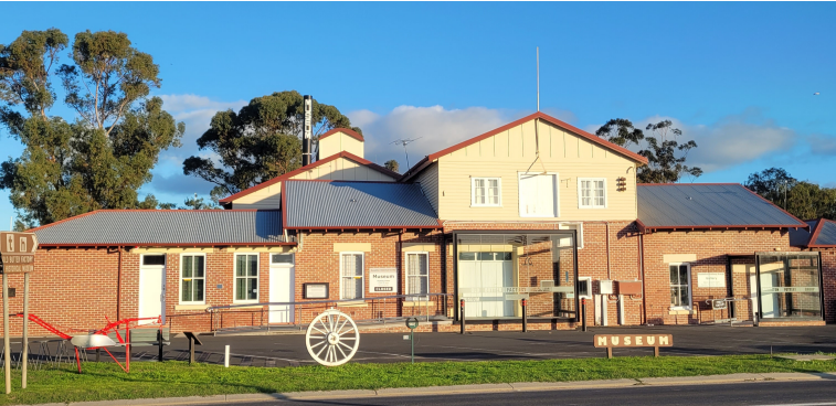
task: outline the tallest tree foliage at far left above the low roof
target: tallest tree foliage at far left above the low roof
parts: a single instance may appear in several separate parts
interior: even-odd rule
[[[130,47],[125,34],[105,34],[76,35],[77,65],[60,70],[65,103],[78,114],[74,120],[50,115],[55,98],[50,66],[66,35],[56,29],[25,31],[9,46],[0,45],[7,101],[0,122],[24,146],[20,157],[0,164],[0,189],[11,192],[27,226],[98,209],[157,205],[152,195],[139,201],[137,190],[151,180],[159,153],[180,146],[184,125],[162,109],[160,98],[145,98],[148,87],[138,83],[159,84],[150,56]]]

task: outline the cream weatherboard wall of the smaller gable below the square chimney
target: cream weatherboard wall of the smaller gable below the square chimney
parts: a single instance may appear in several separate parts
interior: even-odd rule
[[[336,137],[336,136],[331,136]],[[329,137],[329,138],[331,138]],[[315,162],[316,164],[316,162]],[[394,182],[394,177],[387,175],[348,158],[337,158],[329,162],[314,165],[287,179],[334,180],[334,181],[379,181]],[[268,209],[282,206],[282,182],[276,182],[232,201],[231,209]]]

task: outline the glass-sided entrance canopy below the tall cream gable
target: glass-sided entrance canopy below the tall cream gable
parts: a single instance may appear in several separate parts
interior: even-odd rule
[[[535,234],[536,233],[536,234]],[[456,296],[467,319],[578,317],[574,231],[456,232]]]

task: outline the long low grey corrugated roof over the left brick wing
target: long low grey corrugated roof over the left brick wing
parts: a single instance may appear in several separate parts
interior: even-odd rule
[[[282,212],[103,210],[35,228],[41,245],[279,243]]]

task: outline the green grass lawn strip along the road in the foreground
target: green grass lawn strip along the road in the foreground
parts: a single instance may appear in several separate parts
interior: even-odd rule
[[[378,389],[514,382],[567,382],[653,376],[731,373],[833,372],[836,361],[796,362],[769,355],[662,356],[549,360],[346,364],[339,367],[240,367],[189,365],[184,362],[137,362],[130,374],[116,364],[88,362],[84,374],[75,365],[30,371],[29,388],[20,388],[13,371],[11,395],[0,405],[51,402],[208,396],[331,389]]]

